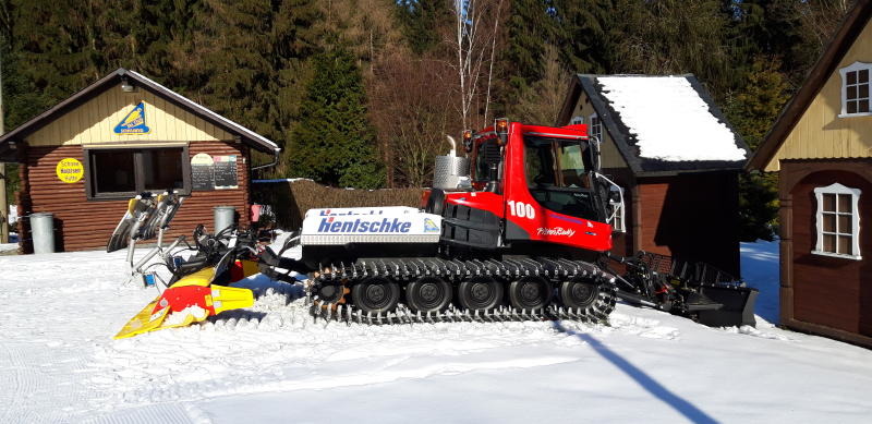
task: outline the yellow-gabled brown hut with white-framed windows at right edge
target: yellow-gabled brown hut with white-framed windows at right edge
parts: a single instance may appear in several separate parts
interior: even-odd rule
[[[748,169],[778,172],[780,323],[872,348],[870,17],[859,0]]]

